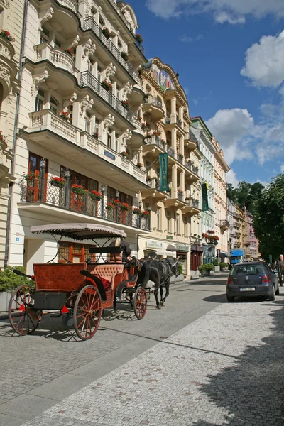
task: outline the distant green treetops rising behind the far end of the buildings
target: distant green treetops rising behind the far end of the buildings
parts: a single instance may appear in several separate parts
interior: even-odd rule
[[[263,189],[263,185],[259,182],[251,185],[251,183],[245,182],[244,180],[239,182],[236,188],[234,188],[231,183],[227,183],[226,185],[226,193],[229,200],[238,204],[239,207],[246,206],[246,209],[252,213],[254,212],[254,205],[261,197]]]

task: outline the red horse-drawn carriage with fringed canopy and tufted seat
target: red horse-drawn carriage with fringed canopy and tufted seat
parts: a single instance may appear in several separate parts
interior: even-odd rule
[[[116,309],[116,295],[123,293],[131,303],[138,320],[146,314],[147,296],[143,287],[137,285],[138,269],[135,264],[125,267],[121,248],[109,246],[114,238],[125,238],[124,231],[109,226],[94,224],[50,224],[32,226],[33,234],[59,236],[58,253],[62,238],[75,241],[92,240],[95,246],[89,253],[94,261],[81,263],[35,263],[34,275],[23,275],[33,280],[32,285],[23,284],[11,295],[9,320],[18,334],[31,334],[40,323],[43,312],[58,311],[63,324],[73,326],[82,340],[94,336],[102,312]],[[99,246],[97,240],[103,240]],[[62,253],[60,258],[64,259]]]

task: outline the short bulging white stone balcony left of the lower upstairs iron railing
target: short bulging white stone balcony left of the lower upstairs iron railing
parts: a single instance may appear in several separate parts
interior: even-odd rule
[[[35,62],[41,60],[49,60],[55,67],[74,73],[74,58],[62,49],[52,48],[48,43],[35,45]]]

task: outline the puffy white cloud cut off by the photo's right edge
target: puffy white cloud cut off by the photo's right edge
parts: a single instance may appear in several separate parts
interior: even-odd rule
[[[284,81],[284,31],[263,35],[259,43],[246,50],[246,65],[241,75],[259,87],[278,87]],[[281,88],[283,90],[283,87]]]

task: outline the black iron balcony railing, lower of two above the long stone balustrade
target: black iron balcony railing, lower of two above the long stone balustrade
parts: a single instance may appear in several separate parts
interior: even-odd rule
[[[114,94],[104,89],[101,82],[99,82],[99,80],[97,80],[97,78],[95,78],[90,72],[81,72],[80,86],[89,87],[89,89],[92,89],[96,94],[99,95],[99,97],[104,99],[105,102],[107,102],[111,107],[119,112],[119,114],[121,114],[124,119],[131,122],[132,112],[128,108],[124,107],[124,105],[121,104],[121,101],[116,96],[114,96]]]

